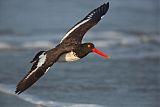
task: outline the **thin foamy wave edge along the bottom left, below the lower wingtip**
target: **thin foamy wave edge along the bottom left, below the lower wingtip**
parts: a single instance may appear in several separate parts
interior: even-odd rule
[[[21,94],[16,95],[14,94],[15,85],[6,85],[6,84],[0,84],[0,91],[5,94],[14,95],[15,97],[18,97],[19,99],[29,102],[31,104],[45,106],[45,107],[103,107],[96,104],[76,104],[76,103],[64,103],[64,102],[58,102],[58,101],[46,101],[43,99],[38,98],[37,96],[33,96],[30,94]]]

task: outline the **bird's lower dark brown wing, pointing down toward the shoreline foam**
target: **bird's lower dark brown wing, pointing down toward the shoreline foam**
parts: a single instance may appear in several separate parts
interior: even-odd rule
[[[49,53],[48,53],[49,54]],[[20,94],[27,88],[32,86],[41,76],[43,76],[49,68],[58,60],[59,56],[56,51],[52,52],[54,57],[49,58],[46,53],[43,57],[33,63],[28,74],[18,83],[15,93]]]

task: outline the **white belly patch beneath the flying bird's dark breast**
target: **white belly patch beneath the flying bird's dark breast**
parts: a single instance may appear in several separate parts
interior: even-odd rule
[[[69,52],[61,55],[58,59],[58,62],[71,62],[71,61],[77,61],[80,58],[76,56],[76,53]]]

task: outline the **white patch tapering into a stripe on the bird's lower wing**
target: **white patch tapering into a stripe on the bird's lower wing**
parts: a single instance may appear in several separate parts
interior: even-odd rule
[[[37,69],[38,69],[39,67],[41,67],[41,66],[45,63],[45,61],[46,61],[46,55],[42,56],[42,57],[39,59],[38,64],[37,64],[37,68],[34,69],[30,74],[28,74],[28,76],[27,76],[25,79],[29,78],[34,72],[36,72]]]

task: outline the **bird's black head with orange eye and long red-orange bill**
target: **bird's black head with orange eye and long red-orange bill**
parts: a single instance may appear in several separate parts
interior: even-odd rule
[[[82,44],[82,47],[85,51],[87,51],[87,53],[94,52],[94,53],[99,54],[105,58],[110,58],[110,56],[108,56],[107,54],[104,54],[103,52],[96,49],[93,43],[84,43],[84,44]]]

